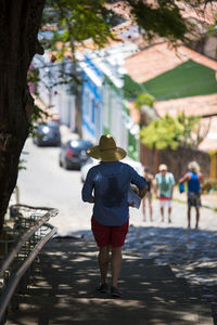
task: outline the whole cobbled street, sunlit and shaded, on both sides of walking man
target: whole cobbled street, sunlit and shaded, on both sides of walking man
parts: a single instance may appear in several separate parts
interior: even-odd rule
[[[21,203],[49,206],[60,210],[51,223],[59,235],[74,234],[90,237],[92,206],[80,198],[80,172],[59,167],[59,148],[37,147],[28,140],[24,148],[28,155],[27,170],[18,177]],[[154,222],[142,221],[141,210],[130,209],[130,231],[126,248],[143,258],[154,258],[157,263],[168,263],[177,275],[188,277],[192,285],[217,283],[217,212],[202,208],[200,230],[187,229],[187,206],[174,202],[173,223],[162,223],[158,202],[154,200]],[[192,211],[192,227],[195,213]],[[149,218],[148,218],[149,220]]]

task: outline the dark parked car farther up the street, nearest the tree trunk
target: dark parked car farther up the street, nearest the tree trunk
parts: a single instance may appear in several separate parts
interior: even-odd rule
[[[36,136],[34,136],[34,143],[38,146],[61,144],[60,125],[56,121],[49,121],[47,123],[40,123],[36,129]]]

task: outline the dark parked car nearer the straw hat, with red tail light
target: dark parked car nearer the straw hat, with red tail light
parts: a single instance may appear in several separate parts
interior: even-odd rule
[[[65,169],[79,169],[88,159],[87,150],[92,146],[88,140],[69,140],[61,145],[59,162]]]

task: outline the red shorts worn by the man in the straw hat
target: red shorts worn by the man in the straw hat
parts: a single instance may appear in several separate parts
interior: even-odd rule
[[[111,245],[122,247],[128,233],[129,220],[122,225],[104,225],[99,223],[94,217],[91,219],[91,229],[99,247]]]

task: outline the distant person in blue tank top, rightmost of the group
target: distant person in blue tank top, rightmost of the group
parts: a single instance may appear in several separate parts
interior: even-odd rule
[[[196,161],[191,161],[188,166],[189,171],[179,180],[179,184],[188,183],[188,227],[191,227],[191,207],[196,210],[195,229],[199,227],[200,207],[201,207],[201,183],[203,174]]]

